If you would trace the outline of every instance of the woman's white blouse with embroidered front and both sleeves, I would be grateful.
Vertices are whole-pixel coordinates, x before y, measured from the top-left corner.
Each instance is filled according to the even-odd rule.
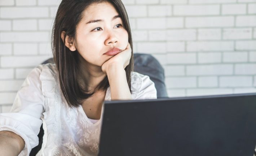
[[[56,73],[54,64],[45,64],[28,74],[10,113],[0,114],[0,131],[9,130],[24,139],[25,147],[19,156],[28,156],[38,145],[42,123],[43,144],[37,156],[96,156],[102,118],[93,121],[81,106],[70,108],[61,94]],[[133,100],[156,98],[154,82],[146,75],[132,72],[131,89]],[[111,100],[110,88],[105,100]]]

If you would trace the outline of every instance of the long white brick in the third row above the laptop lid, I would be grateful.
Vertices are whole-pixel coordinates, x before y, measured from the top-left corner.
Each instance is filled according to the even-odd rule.
[[[188,65],[186,75],[232,75],[233,65],[214,64],[214,65]]]

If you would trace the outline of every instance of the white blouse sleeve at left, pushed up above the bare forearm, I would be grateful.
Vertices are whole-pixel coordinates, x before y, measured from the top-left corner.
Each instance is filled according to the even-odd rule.
[[[29,155],[38,145],[44,111],[44,96],[41,90],[40,73],[43,66],[33,69],[19,89],[10,113],[0,114],[0,131],[8,130],[21,136],[25,147],[19,156]]]

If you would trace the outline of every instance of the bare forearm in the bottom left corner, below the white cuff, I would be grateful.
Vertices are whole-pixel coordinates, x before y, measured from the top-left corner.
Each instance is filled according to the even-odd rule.
[[[0,155],[17,156],[25,146],[24,140],[10,131],[0,132]]]

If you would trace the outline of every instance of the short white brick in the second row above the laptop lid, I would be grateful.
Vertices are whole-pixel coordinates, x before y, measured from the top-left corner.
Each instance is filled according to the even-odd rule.
[[[218,87],[218,77],[199,77],[198,87]]]

